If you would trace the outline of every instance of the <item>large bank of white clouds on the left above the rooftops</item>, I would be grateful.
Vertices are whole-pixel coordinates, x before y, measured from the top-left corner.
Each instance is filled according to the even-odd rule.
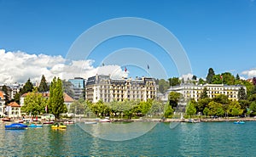
[[[112,78],[127,76],[119,65],[106,65],[93,67],[93,60],[73,60],[69,64],[59,56],[49,56],[45,54],[28,54],[24,52],[6,52],[0,49],[0,83],[24,83],[28,78],[32,82],[40,81],[44,75],[47,81],[51,81],[54,76],[62,79],[69,79],[76,76],[88,78],[90,76],[111,75]]]

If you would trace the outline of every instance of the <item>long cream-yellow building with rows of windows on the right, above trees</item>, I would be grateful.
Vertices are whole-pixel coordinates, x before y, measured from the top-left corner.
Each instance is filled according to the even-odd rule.
[[[220,94],[226,95],[230,100],[237,101],[238,100],[238,91],[241,87],[240,85],[236,86],[228,86],[224,84],[205,84],[205,85],[194,85],[194,84],[183,84],[176,87],[170,87],[167,90],[167,96],[171,92],[182,93],[183,98],[190,99],[194,98],[197,101],[201,97],[201,93],[203,93],[203,89],[207,88],[207,96],[209,98],[215,98]],[[247,88],[243,87],[245,92],[247,92]]]

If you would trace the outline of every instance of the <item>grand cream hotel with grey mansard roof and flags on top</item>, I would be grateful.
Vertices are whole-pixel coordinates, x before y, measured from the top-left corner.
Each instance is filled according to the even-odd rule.
[[[88,78],[85,87],[85,98],[92,103],[124,101],[125,99],[156,98],[156,84],[154,78],[111,79],[110,76],[93,76]]]

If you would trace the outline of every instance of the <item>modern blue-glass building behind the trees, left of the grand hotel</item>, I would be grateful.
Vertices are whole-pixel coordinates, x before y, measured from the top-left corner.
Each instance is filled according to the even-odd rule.
[[[79,98],[84,98],[84,88],[85,88],[85,80],[81,77],[75,77],[73,79],[69,79],[69,82],[73,84],[73,98],[78,100]]]

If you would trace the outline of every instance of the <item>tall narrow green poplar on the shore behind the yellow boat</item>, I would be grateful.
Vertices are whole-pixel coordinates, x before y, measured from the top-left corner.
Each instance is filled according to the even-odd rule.
[[[64,104],[62,81],[60,78],[54,78],[50,83],[48,104],[49,111],[55,115],[55,119],[60,119],[62,113],[67,113],[67,106]]]

